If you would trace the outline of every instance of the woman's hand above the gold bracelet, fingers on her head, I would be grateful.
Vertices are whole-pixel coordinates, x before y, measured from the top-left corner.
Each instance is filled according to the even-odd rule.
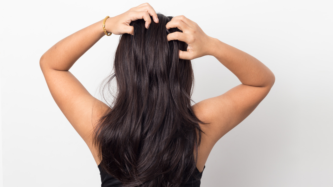
[[[150,6],[149,3],[144,3],[131,8],[123,14],[108,18],[105,22],[105,29],[107,32],[112,32],[115,35],[125,33],[133,35],[134,27],[130,26],[130,23],[138,19],[144,19],[146,21],[145,27],[148,29],[149,25],[152,23],[150,16],[153,17],[155,23],[159,22],[153,7]]]

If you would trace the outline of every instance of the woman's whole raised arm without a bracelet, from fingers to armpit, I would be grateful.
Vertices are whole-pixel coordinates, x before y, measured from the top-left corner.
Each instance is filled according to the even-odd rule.
[[[251,55],[207,36],[193,21],[176,16],[166,28],[182,30],[168,34],[168,41],[180,40],[188,44],[187,51],[179,51],[179,58],[192,60],[205,55],[214,56],[237,76],[242,83],[228,92],[202,100],[193,105],[196,116],[209,125],[202,125],[198,169],[204,163],[214,144],[228,131],[243,121],[265,98],[272,88],[274,74]]]

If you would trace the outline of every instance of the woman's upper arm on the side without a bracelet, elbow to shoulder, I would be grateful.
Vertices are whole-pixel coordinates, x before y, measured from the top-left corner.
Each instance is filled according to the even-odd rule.
[[[202,125],[212,146],[243,121],[265,98],[271,86],[253,87],[240,84],[228,92],[193,105],[195,115],[208,125]],[[208,141],[208,140],[206,140]]]

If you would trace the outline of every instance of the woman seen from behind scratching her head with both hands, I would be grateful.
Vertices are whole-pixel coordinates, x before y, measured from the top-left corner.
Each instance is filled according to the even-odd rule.
[[[115,74],[104,87],[116,78],[112,107],[68,71],[110,33],[122,34]],[[190,60],[205,55],[242,84],[191,106]],[[102,186],[199,186],[214,144],[256,108],[275,81],[254,57],[207,36],[184,16],[156,14],[148,3],[66,37],[41,57],[40,66],[54,100],[90,148]]]

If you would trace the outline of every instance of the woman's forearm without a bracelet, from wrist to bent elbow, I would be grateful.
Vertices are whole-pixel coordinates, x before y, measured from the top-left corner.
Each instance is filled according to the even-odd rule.
[[[213,39],[212,54],[221,64],[228,68],[244,85],[254,87],[271,87],[274,74],[259,60],[251,55]]]

